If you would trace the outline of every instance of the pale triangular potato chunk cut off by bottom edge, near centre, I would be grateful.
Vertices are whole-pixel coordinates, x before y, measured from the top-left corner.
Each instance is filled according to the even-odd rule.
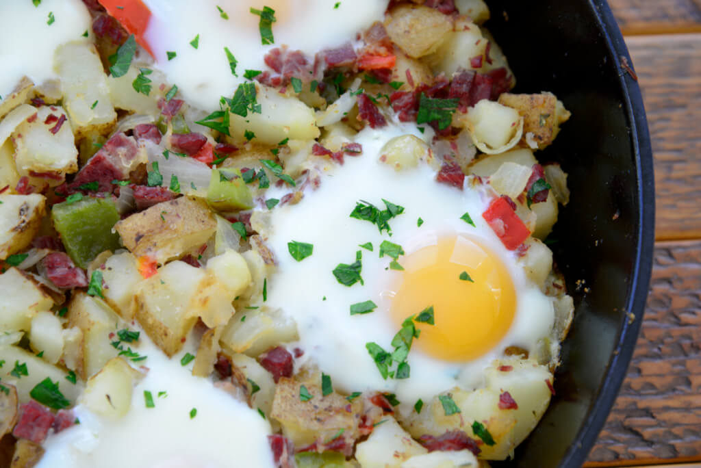
[[[399,468],[404,466],[405,460],[428,453],[394,418],[385,416],[382,419],[382,424],[355,448],[355,459],[362,468]]]

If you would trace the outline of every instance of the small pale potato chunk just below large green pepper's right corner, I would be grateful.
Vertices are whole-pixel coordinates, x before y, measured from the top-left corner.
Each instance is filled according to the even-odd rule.
[[[100,269],[104,287],[104,300],[129,322],[134,318],[134,294],[143,277],[137,270],[136,259],[129,252],[112,255]]]

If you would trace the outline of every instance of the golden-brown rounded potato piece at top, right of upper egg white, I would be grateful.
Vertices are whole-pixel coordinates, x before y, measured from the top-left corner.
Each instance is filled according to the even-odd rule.
[[[423,57],[435,50],[453,29],[449,16],[423,5],[401,4],[385,20],[390,39],[409,57]]]

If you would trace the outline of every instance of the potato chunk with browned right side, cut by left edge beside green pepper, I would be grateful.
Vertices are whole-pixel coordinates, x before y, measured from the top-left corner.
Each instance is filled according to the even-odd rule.
[[[0,260],[32,243],[46,213],[45,204],[46,198],[39,193],[0,195]]]

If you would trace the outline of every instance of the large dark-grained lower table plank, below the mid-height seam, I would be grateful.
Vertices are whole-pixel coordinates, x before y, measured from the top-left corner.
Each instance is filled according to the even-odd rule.
[[[643,320],[587,467],[701,462],[701,240],[655,246]]]

